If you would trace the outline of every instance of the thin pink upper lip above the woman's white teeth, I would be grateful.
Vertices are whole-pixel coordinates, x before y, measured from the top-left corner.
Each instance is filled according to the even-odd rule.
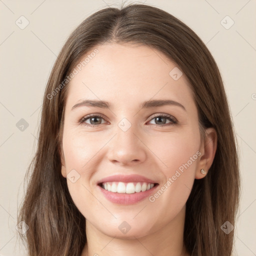
[[[120,181],[120,182],[147,182],[147,183],[157,183],[156,181],[146,178],[144,176],[138,174],[130,174],[130,175],[112,175],[105,178],[100,179],[97,184],[102,182],[110,182],[110,181]]]

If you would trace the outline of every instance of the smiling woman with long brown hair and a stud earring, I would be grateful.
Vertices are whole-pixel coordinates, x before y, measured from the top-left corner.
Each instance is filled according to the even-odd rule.
[[[71,33],[29,167],[29,255],[231,255],[239,172],[223,83],[163,10],[109,7]]]

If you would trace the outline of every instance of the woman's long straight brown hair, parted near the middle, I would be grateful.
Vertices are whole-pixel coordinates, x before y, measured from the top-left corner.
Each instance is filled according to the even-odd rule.
[[[188,78],[199,125],[214,127],[218,141],[207,175],[195,179],[186,202],[184,243],[192,255],[229,256],[233,231],[226,234],[221,225],[225,221],[234,225],[240,178],[222,79],[209,50],[188,26],[145,4],[108,7],[90,15],[70,34],[54,63],[43,97],[37,151],[27,170],[27,177],[31,170],[29,183],[18,213],[18,222],[29,226],[21,235],[29,256],[80,256],[85,245],[85,218],[60,172],[65,79],[85,53],[106,41],[134,42],[159,50]]]

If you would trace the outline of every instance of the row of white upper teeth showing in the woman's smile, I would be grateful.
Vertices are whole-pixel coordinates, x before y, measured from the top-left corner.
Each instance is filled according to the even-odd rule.
[[[149,190],[154,186],[154,183],[146,182],[103,182],[101,187],[105,190],[114,192],[114,193],[127,193],[132,194],[135,192],[144,192]]]

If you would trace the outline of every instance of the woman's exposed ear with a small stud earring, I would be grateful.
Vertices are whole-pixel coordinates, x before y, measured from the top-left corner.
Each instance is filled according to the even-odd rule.
[[[205,130],[205,139],[201,143],[200,148],[200,160],[198,163],[198,167],[195,172],[195,178],[203,178],[207,174],[217,149],[217,132],[214,128],[207,128]],[[205,174],[201,173],[201,169],[204,169]]]

